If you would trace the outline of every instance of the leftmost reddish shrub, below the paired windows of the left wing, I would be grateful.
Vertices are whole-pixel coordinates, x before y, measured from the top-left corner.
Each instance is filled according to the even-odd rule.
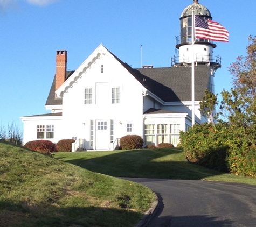
[[[55,150],[55,144],[49,140],[33,140],[27,142],[24,147],[43,154],[51,154]]]

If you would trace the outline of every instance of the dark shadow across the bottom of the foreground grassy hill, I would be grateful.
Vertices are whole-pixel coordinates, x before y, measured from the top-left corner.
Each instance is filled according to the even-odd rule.
[[[0,201],[1,227],[105,226],[133,227],[143,214],[107,207],[59,207],[20,201]]]

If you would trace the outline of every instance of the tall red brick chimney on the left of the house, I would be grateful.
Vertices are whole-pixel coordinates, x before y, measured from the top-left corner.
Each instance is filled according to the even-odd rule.
[[[57,51],[55,90],[57,90],[66,79],[67,74],[67,51]]]

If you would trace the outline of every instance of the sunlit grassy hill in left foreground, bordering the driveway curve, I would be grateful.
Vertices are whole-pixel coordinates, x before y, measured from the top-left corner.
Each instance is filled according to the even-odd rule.
[[[139,184],[0,141],[0,225],[134,226],[155,195]]]

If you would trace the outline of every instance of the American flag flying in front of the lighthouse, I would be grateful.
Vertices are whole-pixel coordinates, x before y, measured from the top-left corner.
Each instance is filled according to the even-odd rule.
[[[209,39],[212,41],[228,42],[229,32],[218,22],[195,16],[196,38]]]

